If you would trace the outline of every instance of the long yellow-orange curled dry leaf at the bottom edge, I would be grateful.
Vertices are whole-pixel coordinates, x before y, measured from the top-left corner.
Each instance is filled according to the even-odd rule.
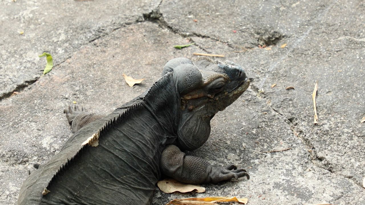
[[[247,204],[248,198],[237,197],[205,197],[205,198],[180,198],[168,202],[166,205],[218,205],[215,202],[239,202]]]

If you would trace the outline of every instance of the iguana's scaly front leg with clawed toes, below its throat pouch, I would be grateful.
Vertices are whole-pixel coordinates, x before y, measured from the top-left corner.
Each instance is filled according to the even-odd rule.
[[[185,155],[174,145],[167,146],[162,152],[160,167],[165,175],[191,184],[218,183],[243,176],[250,178],[245,169],[237,169],[234,165],[227,168],[211,165],[199,157]]]

